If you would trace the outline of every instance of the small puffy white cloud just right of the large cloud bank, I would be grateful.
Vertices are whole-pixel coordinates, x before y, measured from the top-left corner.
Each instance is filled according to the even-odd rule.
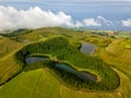
[[[83,23],[84,23],[86,26],[102,26],[100,23],[98,23],[95,19],[92,19],[92,17],[85,19],[85,20],[83,21]]]

